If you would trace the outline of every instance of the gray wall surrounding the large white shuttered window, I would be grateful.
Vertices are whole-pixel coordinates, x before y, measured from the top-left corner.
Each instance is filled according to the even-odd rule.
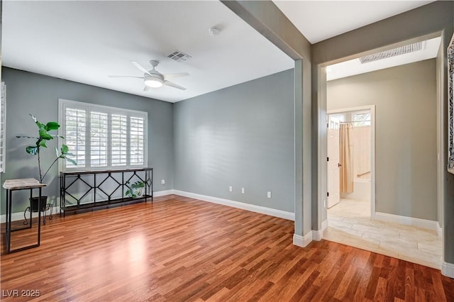
[[[148,165],[154,168],[154,190],[173,189],[172,104],[6,67],[2,69],[2,80],[6,83],[7,98],[6,173],[2,179],[39,177],[36,157],[25,152],[29,141],[18,139],[16,135],[35,135],[36,125],[28,113],[42,122],[58,121],[58,99],[69,99],[148,112]],[[45,151],[49,152],[41,152],[43,160],[49,162],[53,150]],[[160,179],[165,179],[165,185],[160,184]],[[49,186],[43,193],[56,202],[57,165],[45,182]],[[1,196],[3,199],[4,192]],[[18,203],[17,207],[13,206],[13,212],[15,208],[22,211],[23,206]],[[4,208],[1,208],[1,213],[4,213]]]

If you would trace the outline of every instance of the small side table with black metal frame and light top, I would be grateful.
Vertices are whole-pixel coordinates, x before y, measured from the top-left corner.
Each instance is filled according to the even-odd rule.
[[[27,178],[27,179],[9,179],[6,180],[3,184],[4,189],[6,189],[6,252],[19,252],[22,250],[28,250],[33,247],[40,246],[40,236],[41,236],[41,211],[38,211],[38,243],[34,245],[28,245],[25,247],[20,247],[16,250],[11,250],[11,232],[16,230],[24,230],[26,228],[32,228],[30,226],[26,228],[16,228],[11,230],[11,203],[12,203],[12,193],[13,191],[19,190],[30,190],[30,198],[33,197],[33,189],[38,189],[39,191],[39,201],[38,201],[38,208],[41,207],[41,189],[43,186],[47,186],[47,184],[40,184],[37,179]],[[30,201],[31,203],[31,201]],[[30,214],[31,215],[31,214]]]

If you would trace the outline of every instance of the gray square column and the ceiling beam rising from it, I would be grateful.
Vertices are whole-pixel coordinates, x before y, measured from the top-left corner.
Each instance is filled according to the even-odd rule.
[[[222,1],[222,0],[221,0]],[[314,192],[311,191],[312,157],[316,155],[312,144],[311,114],[311,43],[289,21],[272,1],[222,1],[240,18],[255,28],[265,38],[295,60],[294,84],[294,192],[295,192],[295,235],[298,245],[301,236],[312,228],[319,230],[321,220],[314,220],[318,208],[312,206]],[[316,109],[316,108],[315,108]],[[326,211],[325,211],[326,214]],[[319,225],[317,225],[317,223]]]

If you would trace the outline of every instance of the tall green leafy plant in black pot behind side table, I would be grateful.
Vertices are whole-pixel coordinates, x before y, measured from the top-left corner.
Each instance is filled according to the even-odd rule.
[[[76,165],[77,162],[72,160],[71,158],[68,158],[67,155],[72,155],[72,153],[69,152],[69,148],[67,145],[62,145],[60,147],[60,151],[55,147],[55,160],[48,166],[48,169],[45,170],[43,174],[43,167],[41,163],[41,157],[40,157],[40,152],[41,148],[47,148],[48,145],[47,143],[50,140],[53,140],[54,138],[63,138],[60,135],[54,135],[50,134],[50,131],[58,130],[60,128],[60,125],[57,122],[48,122],[48,123],[40,123],[36,119],[35,116],[30,114],[31,118],[33,118],[33,121],[35,121],[35,124],[38,126],[38,136],[17,136],[17,138],[31,138],[33,140],[36,140],[35,145],[29,145],[26,147],[26,152],[31,155],[38,155],[38,171],[40,174],[39,181],[40,183],[43,183],[46,175],[50,171],[50,168],[58,162],[60,159],[65,159],[68,162],[71,162],[72,164]],[[41,196],[41,211],[45,210],[46,208],[46,203],[48,200],[48,196]],[[33,197],[32,198],[32,206],[31,206],[31,211],[33,212],[38,212],[38,197]]]

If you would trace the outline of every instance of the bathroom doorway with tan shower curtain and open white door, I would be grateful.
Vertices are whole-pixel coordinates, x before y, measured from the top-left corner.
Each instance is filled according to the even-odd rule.
[[[367,203],[372,193],[372,112],[345,109],[328,114],[328,208],[343,199]],[[375,208],[375,207],[374,207]]]

